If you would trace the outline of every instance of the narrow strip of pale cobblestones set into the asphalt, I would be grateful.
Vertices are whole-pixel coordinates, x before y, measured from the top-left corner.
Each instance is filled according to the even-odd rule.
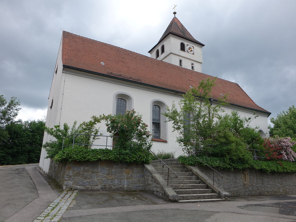
[[[76,194],[77,190],[63,191],[33,222],[59,221]]]

